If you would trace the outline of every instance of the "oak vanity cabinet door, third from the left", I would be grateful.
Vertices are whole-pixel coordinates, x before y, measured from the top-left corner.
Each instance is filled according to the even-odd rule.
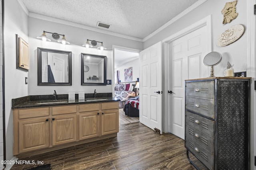
[[[100,135],[100,113],[84,113],[79,115],[79,140]]]

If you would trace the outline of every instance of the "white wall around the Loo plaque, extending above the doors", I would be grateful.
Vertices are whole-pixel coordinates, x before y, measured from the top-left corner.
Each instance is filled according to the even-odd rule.
[[[222,24],[223,15],[221,10],[224,8],[226,2],[230,0],[207,0],[202,5],[198,6],[196,9],[189,12],[184,17],[172,23],[170,26],[166,27],[164,30],[160,31],[158,34],[154,35],[152,38],[144,42],[144,49],[150,47],[151,45],[162,41],[163,39],[177,33],[178,31],[192,25],[193,23],[211,15],[212,18],[212,51],[218,51],[222,54],[222,61],[217,66],[214,66],[215,76],[224,76],[224,70],[227,66],[227,62],[230,61],[234,64],[234,72],[248,71],[247,66],[247,15],[246,15],[246,1],[238,1],[236,5],[236,12],[238,16],[231,23],[226,25]],[[253,8],[253,7],[252,7]],[[218,47],[216,45],[216,40],[218,35],[224,32],[232,25],[242,24],[245,27],[244,35],[238,39],[238,41],[225,46]]]

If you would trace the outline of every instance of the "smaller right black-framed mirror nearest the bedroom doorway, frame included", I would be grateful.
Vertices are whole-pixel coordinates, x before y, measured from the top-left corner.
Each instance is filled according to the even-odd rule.
[[[106,85],[107,57],[81,53],[81,85]]]

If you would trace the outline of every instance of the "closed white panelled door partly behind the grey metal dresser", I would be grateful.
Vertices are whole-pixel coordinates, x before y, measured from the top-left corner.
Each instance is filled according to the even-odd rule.
[[[169,114],[170,133],[185,137],[185,82],[187,79],[208,77],[209,69],[204,65],[204,56],[208,53],[206,26],[201,27],[169,46]],[[170,68],[171,67],[171,68]]]

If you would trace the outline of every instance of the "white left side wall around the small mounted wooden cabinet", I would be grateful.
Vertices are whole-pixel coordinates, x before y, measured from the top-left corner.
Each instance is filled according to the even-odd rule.
[[[28,95],[28,72],[16,69],[16,34],[28,42],[28,16],[17,0],[4,1],[6,160],[13,158],[12,99]],[[29,43],[28,43],[29,44]]]

